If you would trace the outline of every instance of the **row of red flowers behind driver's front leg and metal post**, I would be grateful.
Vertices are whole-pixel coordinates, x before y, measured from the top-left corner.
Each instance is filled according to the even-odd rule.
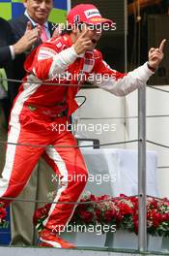
[[[90,203],[90,202],[93,203]],[[88,203],[89,202],[89,203]],[[138,197],[120,195],[95,196],[90,192],[82,195],[80,203],[70,219],[70,225],[116,225],[116,230],[127,230],[138,234]],[[34,224],[42,231],[42,221],[47,217],[51,204],[36,210]],[[169,237],[169,201],[147,197],[148,234]]]

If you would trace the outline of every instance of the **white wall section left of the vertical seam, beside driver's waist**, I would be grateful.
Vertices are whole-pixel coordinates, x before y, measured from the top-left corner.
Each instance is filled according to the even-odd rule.
[[[125,115],[125,98],[116,97],[102,89],[82,89],[78,95],[86,96],[86,103],[74,113],[74,118],[78,117],[112,117]],[[82,100],[78,100],[78,102]],[[95,131],[77,132],[77,135],[83,138],[99,139],[101,144],[110,142],[119,142],[125,140],[124,120],[78,120],[78,124],[86,124],[86,127],[94,125]],[[109,131],[103,131],[104,125],[110,127]],[[99,126],[102,129],[100,132]],[[115,131],[114,131],[115,130]],[[111,147],[111,146],[110,146]],[[117,145],[116,147],[124,147],[124,145]]]

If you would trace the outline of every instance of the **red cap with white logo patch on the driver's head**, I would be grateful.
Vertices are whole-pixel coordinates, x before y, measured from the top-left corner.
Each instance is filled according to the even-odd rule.
[[[84,22],[87,24],[102,24],[107,23],[109,25],[114,22],[111,19],[103,18],[99,14],[99,10],[94,5],[88,4],[80,4],[76,5],[74,8],[70,10],[68,15],[68,23],[73,25],[74,23]]]

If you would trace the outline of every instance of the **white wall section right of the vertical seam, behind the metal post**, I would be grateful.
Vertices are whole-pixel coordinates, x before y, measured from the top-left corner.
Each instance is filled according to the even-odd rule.
[[[159,86],[169,90],[169,86]],[[138,114],[138,93],[133,92],[126,97],[127,116]],[[147,115],[169,114],[169,94],[147,88]],[[137,119],[129,119],[126,127],[126,140],[137,138]],[[169,145],[169,117],[147,118],[147,140]],[[127,148],[137,148],[137,144],[127,144]],[[169,149],[154,144],[147,144],[147,149],[155,150],[158,166],[169,166]],[[169,198],[169,169],[157,169],[157,184],[161,197]]]

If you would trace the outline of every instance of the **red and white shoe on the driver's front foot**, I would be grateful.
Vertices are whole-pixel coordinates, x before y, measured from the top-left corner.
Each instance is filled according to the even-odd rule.
[[[43,229],[40,233],[40,240],[42,241],[39,243],[39,246],[41,247],[55,247],[65,249],[75,248],[74,244],[67,240],[61,239],[58,235],[46,229]]]

